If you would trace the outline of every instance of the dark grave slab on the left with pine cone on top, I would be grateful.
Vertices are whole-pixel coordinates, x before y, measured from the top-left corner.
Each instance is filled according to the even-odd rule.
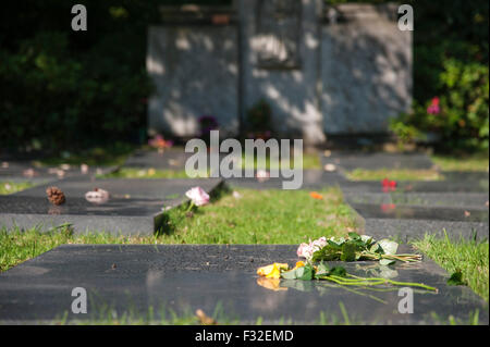
[[[221,179],[96,179],[56,182],[66,197],[61,206],[51,205],[46,196],[49,185],[36,186],[14,195],[0,196],[0,226],[56,226],[73,224],[75,232],[106,231],[122,234],[152,234],[162,226],[163,208],[175,207],[195,186],[211,194]],[[109,191],[102,203],[89,202],[85,194],[94,188]]]

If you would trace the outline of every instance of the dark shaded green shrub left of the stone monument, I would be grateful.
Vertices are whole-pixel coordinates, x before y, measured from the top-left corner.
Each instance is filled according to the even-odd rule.
[[[40,32],[0,52],[2,144],[49,151],[133,136],[149,80],[105,50],[102,40],[73,58],[65,33]]]

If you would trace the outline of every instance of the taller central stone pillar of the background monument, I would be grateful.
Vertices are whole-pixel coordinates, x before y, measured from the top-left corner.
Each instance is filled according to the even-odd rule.
[[[324,135],[321,127],[321,112],[318,104],[319,53],[320,40],[318,28],[321,16],[321,0],[297,0],[299,25],[290,27],[293,34],[298,34],[296,47],[296,64],[292,67],[262,66],[259,61],[260,32],[257,28],[257,7],[266,1],[242,1],[240,8],[244,39],[242,41],[243,59],[243,104],[247,110],[260,99],[271,107],[275,131],[282,134],[301,136],[307,142],[322,142]],[[267,18],[275,21],[273,16]],[[278,34],[280,36],[280,34]],[[272,42],[273,44],[273,42]],[[293,53],[292,53],[293,54]]]

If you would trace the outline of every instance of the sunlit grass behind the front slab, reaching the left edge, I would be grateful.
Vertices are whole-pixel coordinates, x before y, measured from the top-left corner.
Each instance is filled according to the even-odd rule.
[[[240,198],[223,193],[192,213],[185,208],[170,210],[167,227],[158,235],[74,235],[69,226],[0,228],[0,271],[63,244],[299,244],[356,227],[355,212],[336,188],[320,191],[322,200],[302,190],[236,191]]]

